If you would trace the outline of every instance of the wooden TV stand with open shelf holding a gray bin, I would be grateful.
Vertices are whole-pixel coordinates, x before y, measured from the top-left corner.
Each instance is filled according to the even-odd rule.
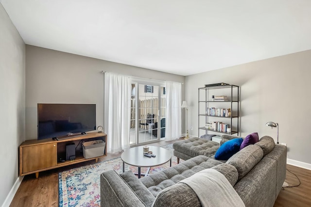
[[[76,150],[76,158],[73,160],[63,160],[66,156],[66,144],[75,143],[76,146],[81,141],[103,140],[105,143],[104,155],[94,158],[84,158],[80,149]],[[39,172],[64,167],[88,160],[98,161],[99,158],[107,156],[107,135],[103,132],[93,132],[86,135],[66,137],[66,139],[46,139],[46,140],[27,140],[19,146],[19,175],[35,174],[39,177]],[[39,158],[39,159],[38,159]]]

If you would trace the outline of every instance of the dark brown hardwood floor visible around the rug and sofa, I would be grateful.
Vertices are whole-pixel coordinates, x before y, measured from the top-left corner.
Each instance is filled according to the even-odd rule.
[[[148,145],[162,146],[173,142],[153,143]],[[120,157],[121,153],[108,154],[99,161]],[[10,207],[57,207],[58,206],[58,173],[70,168],[95,163],[94,160],[78,163],[63,168],[40,172],[39,177],[26,175],[19,186]],[[311,207],[311,170],[287,165],[287,169],[296,174],[301,184],[298,187],[281,190],[274,207]],[[297,178],[287,171],[286,180],[290,186],[298,184]]]

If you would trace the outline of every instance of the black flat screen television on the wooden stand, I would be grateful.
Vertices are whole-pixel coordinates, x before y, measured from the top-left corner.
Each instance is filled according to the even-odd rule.
[[[66,139],[96,129],[96,104],[38,103],[38,140]]]

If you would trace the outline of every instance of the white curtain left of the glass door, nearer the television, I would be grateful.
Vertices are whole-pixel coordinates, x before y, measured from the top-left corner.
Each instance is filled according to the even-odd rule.
[[[130,147],[131,84],[131,77],[110,72],[104,74],[104,131],[111,153]]]

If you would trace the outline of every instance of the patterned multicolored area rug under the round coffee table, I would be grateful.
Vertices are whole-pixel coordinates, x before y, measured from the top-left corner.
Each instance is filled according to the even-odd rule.
[[[162,146],[172,152],[173,144]],[[177,164],[177,158],[172,157],[172,166]],[[163,165],[151,167],[149,174],[161,171],[170,167],[170,162]],[[100,175],[104,171],[115,170],[122,173],[121,158],[110,159],[91,165],[86,165],[67,171],[58,175],[59,207],[100,207],[101,189]],[[125,164],[125,171],[138,172],[138,168]],[[141,174],[145,174],[147,168],[141,168]]]

